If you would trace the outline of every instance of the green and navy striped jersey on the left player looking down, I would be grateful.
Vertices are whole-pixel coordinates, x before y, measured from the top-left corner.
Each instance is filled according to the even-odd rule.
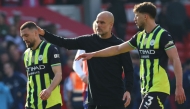
[[[57,86],[47,100],[40,99],[40,92],[50,86],[54,73],[53,66],[59,66],[60,56],[57,48],[42,41],[35,50],[28,48],[24,52],[24,63],[27,69],[26,107],[46,109],[56,104],[62,104],[60,86]]]

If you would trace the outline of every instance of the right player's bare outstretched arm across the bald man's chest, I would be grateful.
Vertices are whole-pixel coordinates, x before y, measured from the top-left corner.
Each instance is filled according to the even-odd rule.
[[[99,51],[84,53],[82,55],[79,55],[75,60],[80,60],[81,58],[83,58],[83,60],[88,60],[88,59],[91,59],[92,57],[110,57],[110,56],[115,56],[121,53],[131,51],[133,49],[134,48],[130,44],[128,44],[128,41],[127,41],[120,45],[111,46]]]

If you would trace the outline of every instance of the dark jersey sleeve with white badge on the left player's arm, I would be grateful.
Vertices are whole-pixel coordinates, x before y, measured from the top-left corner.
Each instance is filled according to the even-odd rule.
[[[49,64],[53,66],[61,65],[60,54],[57,47],[51,45],[49,49]]]

